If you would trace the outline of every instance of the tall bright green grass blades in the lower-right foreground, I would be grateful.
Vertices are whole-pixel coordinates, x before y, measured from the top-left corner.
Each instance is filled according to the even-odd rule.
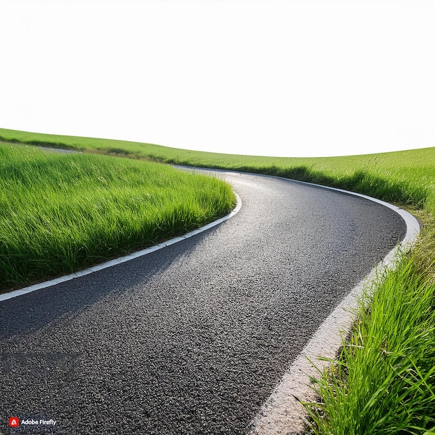
[[[352,338],[322,373],[314,434],[435,433],[435,284],[411,258],[365,295]]]

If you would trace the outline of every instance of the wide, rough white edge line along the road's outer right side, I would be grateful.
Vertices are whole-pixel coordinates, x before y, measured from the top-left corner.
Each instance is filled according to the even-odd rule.
[[[304,183],[298,181],[298,183]],[[306,183],[311,184],[311,183]],[[311,184],[312,186],[312,184]],[[315,185],[319,186],[319,185]],[[325,186],[320,186],[325,188]],[[350,195],[370,199],[398,213],[407,224],[407,233],[402,243],[392,249],[383,261],[373,268],[366,278],[361,280],[345,299],[334,309],[329,317],[320,325],[304,350],[291,363],[279,384],[265,401],[250,427],[249,435],[296,435],[304,432],[305,419],[308,418],[306,409],[299,401],[315,402],[315,391],[311,379],[318,379],[318,370],[325,370],[329,363],[320,357],[334,359],[342,344],[342,338],[350,331],[355,319],[358,300],[363,288],[381,275],[386,269],[393,269],[397,263],[397,250],[411,249],[420,233],[420,225],[413,215],[397,206],[371,198],[359,193],[348,192],[336,188]],[[313,366],[315,364],[315,366]]]

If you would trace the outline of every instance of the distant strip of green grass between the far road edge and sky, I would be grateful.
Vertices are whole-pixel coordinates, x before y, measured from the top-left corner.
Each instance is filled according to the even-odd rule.
[[[290,158],[190,151],[138,142],[0,129],[0,139],[179,165],[277,175],[423,208],[435,189],[435,147],[362,156]]]

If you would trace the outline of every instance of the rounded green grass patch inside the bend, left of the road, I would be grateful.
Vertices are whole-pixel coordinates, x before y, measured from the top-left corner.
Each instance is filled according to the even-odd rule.
[[[234,205],[227,183],[160,163],[0,144],[1,289],[154,245]]]

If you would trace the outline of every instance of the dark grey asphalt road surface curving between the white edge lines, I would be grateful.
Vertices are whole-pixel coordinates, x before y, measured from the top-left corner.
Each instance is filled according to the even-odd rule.
[[[230,220],[0,302],[1,434],[246,434],[336,304],[405,233],[384,206],[224,174]],[[9,417],[56,426],[8,427]]]

